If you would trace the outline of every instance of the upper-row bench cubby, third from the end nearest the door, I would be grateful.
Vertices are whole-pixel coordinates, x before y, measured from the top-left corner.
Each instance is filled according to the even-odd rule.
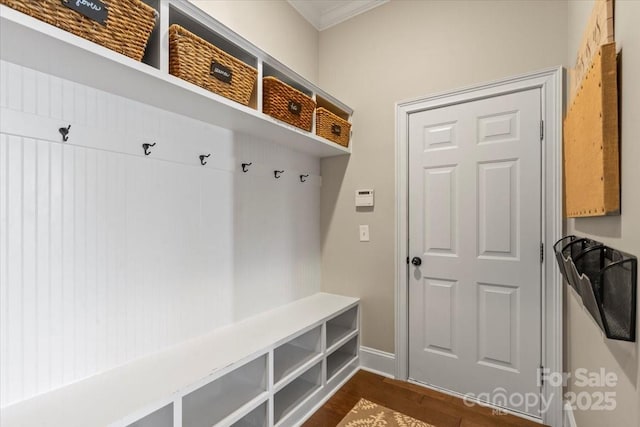
[[[184,396],[182,425],[213,426],[266,391],[265,354]]]

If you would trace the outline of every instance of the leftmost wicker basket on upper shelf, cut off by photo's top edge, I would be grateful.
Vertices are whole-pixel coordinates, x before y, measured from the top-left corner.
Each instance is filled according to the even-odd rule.
[[[72,6],[78,4],[75,0],[68,2]],[[0,3],[137,61],[142,60],[156,23],[156,11],[139,0],[101,0],[107,9],[103,23],[65,6],[63,0],[0,0]],[[102,12],[104,17],[104,9]]]

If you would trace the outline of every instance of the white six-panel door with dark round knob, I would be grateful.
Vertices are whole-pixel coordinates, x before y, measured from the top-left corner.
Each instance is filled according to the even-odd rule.
[[[409,376],[540,416],[539,89],[409,119]]]

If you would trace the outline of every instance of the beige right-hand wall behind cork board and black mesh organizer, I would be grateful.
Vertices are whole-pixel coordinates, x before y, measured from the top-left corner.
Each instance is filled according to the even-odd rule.
[[[593,7],[593,1],[570,1],[568,5],[567,63],[575,62],[582,32]],[[566,221],[567,234],[578,234],[600,240],[617,249],[640,256],[640,2],[616,0],[615,38],[622,51],[621,105],[621,186],[622,215],[601,218],[579,218]],[[615,388],[576,387],[574,393],[613,391],[615,411],[577,411],[580,427],[640,425],[640,392],[638,343],[607,340],[600,328],[582,308],[573,291],[565,292],[565,370],[586,368],[597,372],[604,368],[618,377]]]

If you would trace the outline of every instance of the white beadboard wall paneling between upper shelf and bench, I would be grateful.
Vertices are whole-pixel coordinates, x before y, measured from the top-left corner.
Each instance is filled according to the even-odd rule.
[[[319,291],[319,172],[0,61],[0,406]]]

